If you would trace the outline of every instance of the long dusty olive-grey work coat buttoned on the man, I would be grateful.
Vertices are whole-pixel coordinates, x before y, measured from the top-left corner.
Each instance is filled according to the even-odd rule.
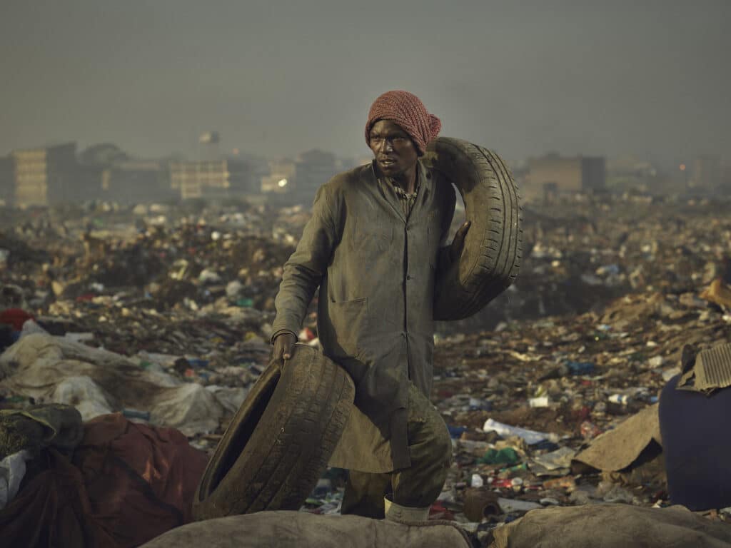
[[[274,336],[297,333],[319,286],[322,349],[356,387],[357,411],[330,461],[342,468],[407,468],[409,380],[431,392],[434,284],[455,192],[421,161],[417,176],[408,217],[375,161],[320,187],[275,300]]]

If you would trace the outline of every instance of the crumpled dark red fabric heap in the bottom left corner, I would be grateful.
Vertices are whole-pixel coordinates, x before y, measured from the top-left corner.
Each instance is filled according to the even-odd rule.
[[[121,414],[86,423],[72,460],[55,449],[42,458],[46,469],[26,476],[18,496],[0,510],[2,546],[144,544],[192,520],[193,495],[208,461],[177,430]]]

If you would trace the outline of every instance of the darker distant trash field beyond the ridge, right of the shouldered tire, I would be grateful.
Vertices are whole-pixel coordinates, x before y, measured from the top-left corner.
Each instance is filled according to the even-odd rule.
[[[439,331],[494,329],[501,321],[599,309],[628,293],[683,294],[731,283],[731,201],[577,197],[523,210],[515,283],[470,319]],[[455,216],[452,233],[462,219]]]

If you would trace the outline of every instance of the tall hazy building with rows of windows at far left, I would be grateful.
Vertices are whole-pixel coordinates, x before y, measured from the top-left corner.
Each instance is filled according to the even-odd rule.
[[[53,205],[99,197],[98,170],[78,164],[76,143],[12,151],[15,205]]]

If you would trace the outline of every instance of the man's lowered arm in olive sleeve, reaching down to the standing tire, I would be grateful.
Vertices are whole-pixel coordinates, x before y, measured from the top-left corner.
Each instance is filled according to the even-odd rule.
[[[328,190],[325,186],[320,187],[312,206],[312,217],[303,230],[297,249],[284,263],[279,292],[274,300],[276,317],[272,325],[272,342],[283,333],[294,335],[294,340],[297,340],[307,307],[336,245],[337,225],[333,209]],[[275,354],[277,350],[281,354],[285,349],[276,344]],[[280,358],[281,355],[273,356],[273,359]]]

